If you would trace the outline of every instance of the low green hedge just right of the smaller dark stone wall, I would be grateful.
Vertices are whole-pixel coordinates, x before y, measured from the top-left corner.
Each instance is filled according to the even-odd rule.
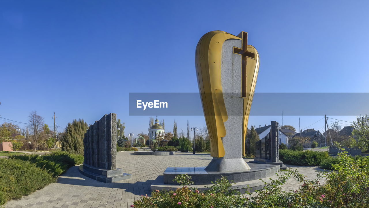
[[[279,150],[279,160],[291,165],[320,165],[328,158],[328,152]]]

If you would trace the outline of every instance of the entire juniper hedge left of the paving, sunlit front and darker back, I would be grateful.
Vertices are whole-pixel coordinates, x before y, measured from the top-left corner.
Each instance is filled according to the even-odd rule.
[[[69,167],[82,164],[81,155],[54,152],[49,155],[12,155],[0,159],[0,206],[11,199],[44,188]]]

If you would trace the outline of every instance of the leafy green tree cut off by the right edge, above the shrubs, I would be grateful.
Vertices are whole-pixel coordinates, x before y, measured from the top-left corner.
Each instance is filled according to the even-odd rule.
[[[356,117],[356,121],[352,124],[352,137],[357,140],[357,146],[361,151],[366,151],[369,148],[369,115]]]

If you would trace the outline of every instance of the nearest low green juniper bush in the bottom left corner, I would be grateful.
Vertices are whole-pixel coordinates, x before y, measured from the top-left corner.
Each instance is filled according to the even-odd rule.
[[[0,159],[0,206],[56,181],[46,169],[18,159]]]

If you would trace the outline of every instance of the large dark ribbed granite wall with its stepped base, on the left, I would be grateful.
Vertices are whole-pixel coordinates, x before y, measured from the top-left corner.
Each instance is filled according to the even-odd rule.
[[[104,183],[132,178],[116,167],[117,114],[104,115],[85,133],[83,138],[83,165],[79,171],[89,178]]]

